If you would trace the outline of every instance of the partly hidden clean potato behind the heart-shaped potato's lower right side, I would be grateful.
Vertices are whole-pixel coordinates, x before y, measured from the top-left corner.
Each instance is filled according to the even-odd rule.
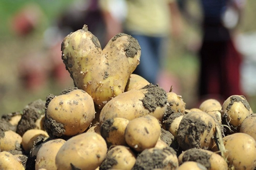
[[[142,76],[137,74],[131,74],[126,84],[125,92],[131,89],[140,90],[145,86],[147,86],[148,84],[150,84],[150,82],[148,82],[148,80],[146,80]]]

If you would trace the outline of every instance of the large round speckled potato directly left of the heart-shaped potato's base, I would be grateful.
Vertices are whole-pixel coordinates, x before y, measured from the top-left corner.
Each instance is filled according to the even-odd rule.
[[[83,90],[73,90],[54,97],[48,104],[45,129],[51,137],[74,136],[83,133],[95,116],[91,96]]]

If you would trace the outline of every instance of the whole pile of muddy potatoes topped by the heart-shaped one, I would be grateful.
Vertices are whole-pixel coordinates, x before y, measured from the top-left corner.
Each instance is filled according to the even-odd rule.
[[[186,108],[182,96],[132,74],[127,34],[102,50],[87,26],[66,36],[74,87],[0,120],[0,169],[254,169],[256,116],[244,96]]]

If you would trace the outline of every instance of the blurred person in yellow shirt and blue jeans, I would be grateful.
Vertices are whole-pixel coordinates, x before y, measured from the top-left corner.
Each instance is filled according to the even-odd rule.
[[[120,32],[137,39],[142,54],[140,65],[133,73],[156,84],[162,57],[167,53],[168,39],[181,32],[175,0],[100,0],[100,5],[106,23],[106,41]]]

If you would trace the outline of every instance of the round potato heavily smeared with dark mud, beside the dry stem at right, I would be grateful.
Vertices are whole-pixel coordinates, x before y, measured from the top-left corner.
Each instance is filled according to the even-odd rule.
[[[190,112],[182,118],[176,139],[183,150],[211,148],[217,126],[215,120],[207,113]]]

